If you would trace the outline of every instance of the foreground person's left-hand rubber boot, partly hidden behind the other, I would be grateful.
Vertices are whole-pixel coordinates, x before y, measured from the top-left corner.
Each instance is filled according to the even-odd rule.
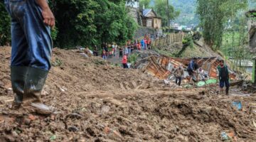
[[[14,102],[11,105],[11,109],[18,109],[18,107],[21,107],[27,73],[28,67],[11,67],[11,86],[14,91]]]

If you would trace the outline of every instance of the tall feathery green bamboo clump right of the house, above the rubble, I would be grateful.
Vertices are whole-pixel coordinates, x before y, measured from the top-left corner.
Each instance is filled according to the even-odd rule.
[[[203,38],[213,50],[219,50],[225,23],[247,7],[247,0],[198,0],[197,4]]]

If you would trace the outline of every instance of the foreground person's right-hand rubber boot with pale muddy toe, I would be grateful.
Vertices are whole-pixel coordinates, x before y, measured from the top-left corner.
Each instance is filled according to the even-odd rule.
[[[29,67],[28,76],[24,87],[24,104],[36,109],[39,114],[51,114],[52,108],[46,106],[41,101],[41,92],[46,82],[48,71],[35,67]]]

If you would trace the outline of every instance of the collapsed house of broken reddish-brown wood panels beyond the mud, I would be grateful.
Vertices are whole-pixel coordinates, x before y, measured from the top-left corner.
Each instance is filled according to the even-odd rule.
[[[146,53],[137,52],[141,54],[141,59],[137,61],[134,68],[142,70],[142,72],[158,77],[161,80],[166,80],[173,74],[175,67],[182,66],[185,71],[185,77],[188,76],[186,68],[192,60],[191,58],[169,58],[156,53],[146,56]],[[218,63],[218,57],[198,58],[197,60],[198,67],[201,67],[211,79],[218,79]],[[235,80],[235,75],[230,74],[230,79]]]

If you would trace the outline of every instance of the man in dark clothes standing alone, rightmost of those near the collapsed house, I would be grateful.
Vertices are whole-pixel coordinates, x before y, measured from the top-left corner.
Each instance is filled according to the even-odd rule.
[[[225,94],[228,95],[229,91],[229,73],[235,74],[228,70],[228,66],[224,64],[224,60],[220,60],[220,64],[217,67],[217,76],[220,81],[220,92],[223,93],[223,87],[225,86]]]

